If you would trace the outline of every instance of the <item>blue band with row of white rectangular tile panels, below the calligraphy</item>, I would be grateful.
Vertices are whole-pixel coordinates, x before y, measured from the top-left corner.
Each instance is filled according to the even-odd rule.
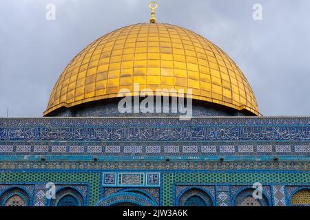
[[[174,146],[178,144],[178,152],[166,152],[165,147]],[[88,142],[88,141],[0,141],[0,146],[10,147],[6,150],[1,150],[0,160],[4,160],[8,155],[13,157],[21,157],[28,155],[30,157],[39,157],[47,155],[48,157],[169,157],[169,156],[183,156],[183,157],[207,157],[216,155],[238,155],[238,156],[264,156],[264,155],[282,155],[282,156],[300,156],[310,155],[310,143],[307,140],[287,141],[287,140],[254,140],[254,141],[184,141],[180,144],[178,141],[139,141],[139,142]],[[45,147],[44,151],[35,152],[37,146]],[[54,151],[54,147],[62,146],[62,151]],[[96,146],[97,151],[92,151],[89,148]],[[125,147],[130,146],[132,152],[126,152]],[[196,147],[196,151],[186,151],[186,147]],[[228,147],[229,148],[225,148]],[[27,149],[21,150],[22,148]],[[74,148],[80,147],[79,150]],[[118,151],[111,151],[110,148],[118,147]],[[139,151],[134,151],[135,147],[140,147]],[[148,147],[157,147],[158,152],[148,150]],[[209,147],[210,149],[207,149]],[[250,148],[249,151],[242,151],[242,147]],[[268,147],[267,149],[261,149]],[[287,147],[287,148],[284,148]],[[5,158],[3,158],[5,157]],[[13,158],[14,159],[14,158]]]

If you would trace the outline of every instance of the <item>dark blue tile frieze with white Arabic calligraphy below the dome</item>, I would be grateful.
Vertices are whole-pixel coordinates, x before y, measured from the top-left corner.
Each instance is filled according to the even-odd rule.
[[[259,126],[259,125],[237,125],[229,126],[31,126],[25,131],[25,126],[0,127],[1,142],[221,142],[221,141],[310,141],[310,126],[304,124],[282,125],[282,126]],[[169,132],[167,131],[169,129]],[[255,129],[255,135],[253,131]],[[23,133],[16,133],[14,131]],[[31,131],[34,130],[34,131]],[[259,131],[260,133],[259,133]],[[32,133],[29,134],[28,131]],[[294,133],[293,133],[294,132]],[[13,133],[13,135],[11,135]],[[52,134],[52,136],[48,136]],[[92,133],[92,137],[90,137]],[[285,137],[283,137],[285,133]],[[128,135],[130,134],[130,135]],[[134,135],[132,135],[134,134]],[[158,135],[162,134],[162,135]],[[163,135],[164,134],[164,135]],[[250,134],[250,135],[249,135]],[[289,135],[287,135],[289,134]],[[16,135],[16,136],[14,136]],[[127,135],[127,136],[126,136]],[[254,138],[255,137],[255,138]]]

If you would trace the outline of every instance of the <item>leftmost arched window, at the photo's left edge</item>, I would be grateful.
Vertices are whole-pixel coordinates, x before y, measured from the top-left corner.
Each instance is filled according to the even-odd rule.
[[[25,190],[14,187],[6,190],[0,197],[1,206],[30,206],[30,198]]]

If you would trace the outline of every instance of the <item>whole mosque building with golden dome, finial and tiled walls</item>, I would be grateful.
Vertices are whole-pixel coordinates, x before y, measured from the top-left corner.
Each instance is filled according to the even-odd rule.
[[[0,206],[310,206],[310,117],[262,116],[223,50],[150,8],[72,59],[44,117],[0,118]],[[121,113],[143,89],[192,117]]]

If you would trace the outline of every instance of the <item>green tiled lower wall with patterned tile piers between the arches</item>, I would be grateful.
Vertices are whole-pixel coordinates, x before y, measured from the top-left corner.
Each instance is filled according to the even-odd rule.
[[[134,174],[134,173],[118,173],[118,178],[121,178],[121,175],[123,174]],[[140,173],[136,173],[140,177]],[[190,188],[198,186],[198,188],[205,188],[207,191],[211,193],[212,197],[215,197],[215,188],[216,186],[216,201],[218,206],[229,206],[229,198],[231,199],[240,188],[243,188],[245,186],[249,186],[251,188],[251,184],[253,184],[256,181],[262,182],[262,183],[274,183],[275,185],[272,187],[273,190],[273,201],[275,206],[285,206],[285,187],[282,185],[282,183],[287,184],[295,184],[296,186],[287,186],[288,195],[291,195],[291,192],[293,192],[294,189],[297,188],[297,186],[302,184],[308,184],[310,185],[309,179],[310,179],[310,173],[274,173],[272,170],[266,170],[265,172],[259,172],[256,173],[255,171],[252,171],[251,173],[225,173],[223,172],[207,172],[207,173],[191,173],[187,171],[184,172],[175,172],[175,173],[161,173],[162,180],[159,179],[159,177],[154,177],[156,173],[147,173],[148,177],[146,178],[147,181],[149,181],[147,187],[153,187],[154,185],[150,184],[150,181],[155,181],[157,183],[161,182],[162,184],[160,186],[155,186],[156,188],[161,188],[161,203],[163,206],[172,206],[174,202],[174,197],[172,195],[172,188],[174,187],[174,184],[177,184],[177,186],[181,186],[183,188]],[[59,187],[65,187],[65,186],[72,186],[72,183],[76,183],[76,186],[78,186],[79,183],[88,183],[90,184],[90,190],[87,192],[87,188],[85,186],[81,186],[79,190],[83,194],[84,197],[88,195],[89,198],[89,205],[92,206],[94,203],[99,201],[99,195],[100,195],[100,182],[101,182],[101,172],[100,170],[98,172],[87,172],[85,170],[85,173],[73,173],[73,172],[65,172],[65,173],[31,173],[31,172],[12,172],[10,175],[8,173],[0,173],[0,182],[1,183],[10,183],[10,184],[1,184],[4,188],[8,188],[8,186],[15,185],[16,183],[20,182],[43,182],[43,181],[52,181],[56,183],[56,186]],[[127,184],[127,182],[124,181],[136,181],[136,176],[132,176],[130,178],[124,177],[125,180],[122,180],[123,186],[126,186],[126,188],[130,188],[130,184]],[[132,179],[134,178],[134,179]],[[144,179],[144,178],[143,178]],[[140,179],[141,181],[142,179]],[[68,183],[63,184],[60,186],[58,183]],[[277,184],[278,183],[278,184]],[[127,184],[127,185],[126,185]],[[205,186],[205,184],[209,184],[211,186]],[[230,186],[229,186],[230,185]],[[45,197],[45,188],[44,184],[39,184],[35,186],[35,200],[34,205],[35,206],[42,206],[42,203],[44,203],[44,197]],[[143,183],[141,184],[143,186]],[[25,186],[28,187],[29,191],[33,190],[33,186]],[[137,186],[138,187],[138,186]],[[138,187],[140,188],[140,187]],[[229,188],[230,188],[230,194],[229,195]],[[124,188],[125,189],[125,188]],[[1,191],[1,188],[0,188]],[[178,188],[176,188],[176,193],[179,192]],[[268,200],[271,201],[271,189],[269,186],[263,186],[263,192],[264,195],[267,196]],[[32,195],[30,193],[30,195]],[[43,196],[43,197],[42,197]]]

